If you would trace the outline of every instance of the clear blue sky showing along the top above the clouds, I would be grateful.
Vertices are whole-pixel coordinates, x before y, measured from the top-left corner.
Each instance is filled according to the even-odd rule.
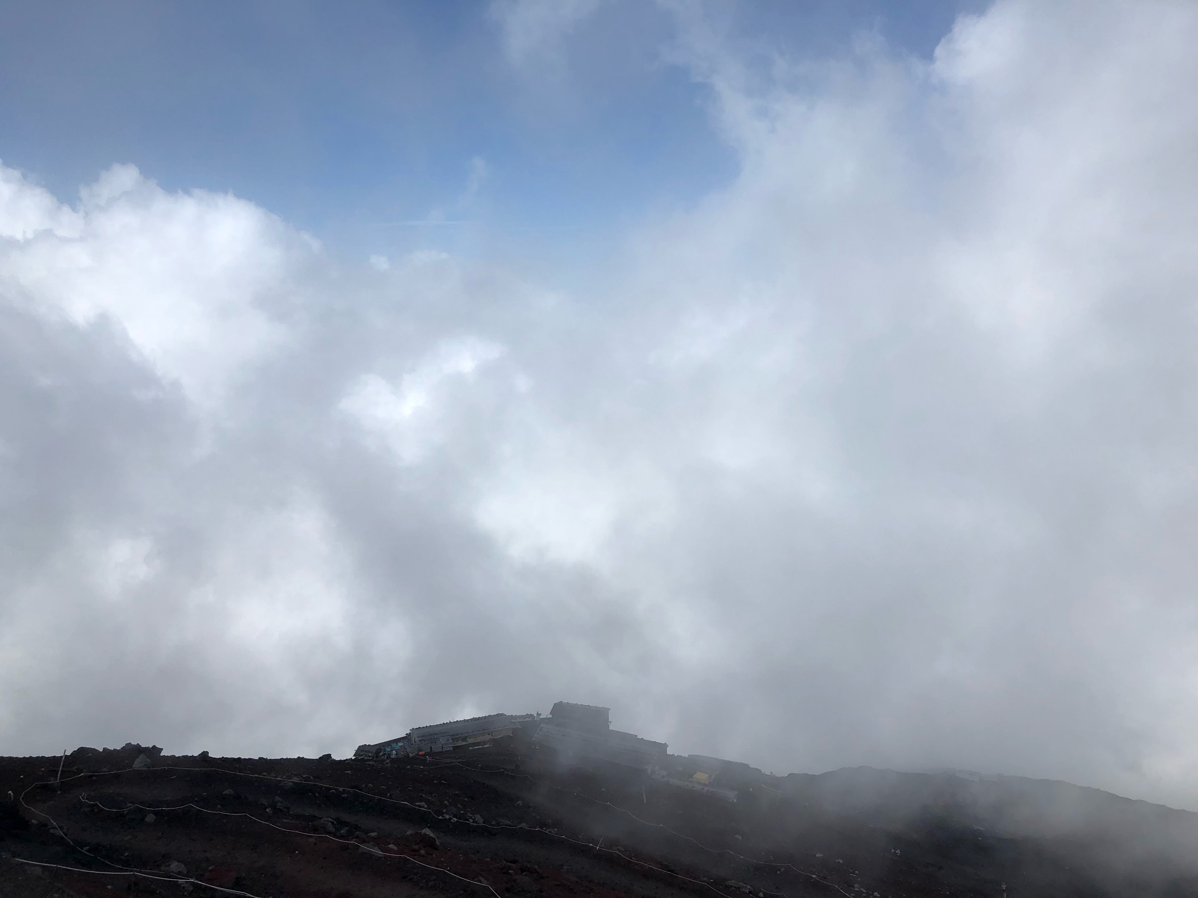
[[[761,57],[841,56],[861,31],[930,57],[963,6],[710,11]],[[387,223],[446,210],[569,242],[736,175],[709,89],[668,61],[673,19],[652,4],[604,4],[520,66],[479,2],[13,4],[6,19],[4,158],[62,198],[134,162],[167,189],[231,190],[333,247],[478,250],[450,225]],[[488,175],[460,205],[474,159]]]

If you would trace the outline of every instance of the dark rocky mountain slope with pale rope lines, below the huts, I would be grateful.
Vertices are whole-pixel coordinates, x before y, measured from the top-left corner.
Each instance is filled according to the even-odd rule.
[[[510,740],[389,762],[80,748],[0,759],[0,896],[1180,898],[1198,896],[1196,821],[1065,783],[870,769],[728,802]]]

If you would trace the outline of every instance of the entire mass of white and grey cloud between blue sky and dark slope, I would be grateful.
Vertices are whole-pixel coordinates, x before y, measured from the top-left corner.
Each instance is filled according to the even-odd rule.
[[[738,174],[574,277],[5,159],[2,753],[567,699],[1198,809],[1198,7],[1000,2],[931,61],[677,22]]]

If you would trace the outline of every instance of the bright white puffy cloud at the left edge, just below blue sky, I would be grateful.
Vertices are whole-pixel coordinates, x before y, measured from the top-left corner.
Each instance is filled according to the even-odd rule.
[[[132,165],[80,192],[78,211],[5,170],[0,247],[6,292],[86,324],[117,322],[187,392],[214,401],[230,377],[277,346],[268,304],[297,290],[315,244],[230,195],[171,195]]]

